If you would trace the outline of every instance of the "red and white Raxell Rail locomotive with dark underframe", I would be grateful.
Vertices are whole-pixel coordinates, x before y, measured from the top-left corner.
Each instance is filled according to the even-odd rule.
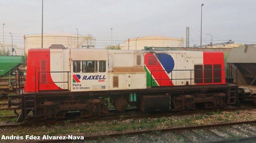
[[[29,49],[19,120],[107,115],[118,110],[189,111],[236,104],[237,86],[226,83],[223,52],[106,49]],[[21,87],[22,88],[22,87]]]

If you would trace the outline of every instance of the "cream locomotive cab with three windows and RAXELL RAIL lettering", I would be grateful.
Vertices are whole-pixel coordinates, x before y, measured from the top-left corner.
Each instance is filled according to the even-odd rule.
[[[105,49],[71,49],[71,92],[108,89],[108,56]]]

